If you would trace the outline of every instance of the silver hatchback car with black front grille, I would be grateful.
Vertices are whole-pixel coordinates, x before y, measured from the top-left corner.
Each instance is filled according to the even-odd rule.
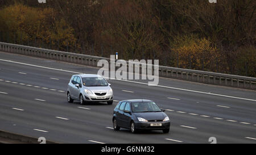
[[[97,74],[79,74],[71,77],[67,90],[68,102],[80,100],[86,102],[113,103],[113,90],[105,78]]]

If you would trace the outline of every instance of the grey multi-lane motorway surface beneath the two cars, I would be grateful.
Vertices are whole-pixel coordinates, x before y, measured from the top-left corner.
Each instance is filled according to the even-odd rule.
[[[90,66],[0,52],[0,129],[59,143],[256,143],[256,91],[159,78],[109,79],[113,105],[67,102],[73,74],[93,73]],[[114,131],[119,100],[151,99],[166,109],[170,133]]]

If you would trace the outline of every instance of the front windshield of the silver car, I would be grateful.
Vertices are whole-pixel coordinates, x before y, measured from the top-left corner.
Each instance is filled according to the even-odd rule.
[[[108,86],[108,82],[102,77],[83,77],[82,85],[86,87]]]

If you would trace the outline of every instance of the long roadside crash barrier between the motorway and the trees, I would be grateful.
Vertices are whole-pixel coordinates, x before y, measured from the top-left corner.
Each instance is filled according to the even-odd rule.
[[[0,51],[16,53],[20,55],[48,58],[52,60],[71,62],[74,64],[89,65],[95,67],[97,67],[97,62],[101,59],[105,59],[110,62],[110,58],[106,57],[81,55],[77,53],[61,52],[51,49],[35,48],[2,42],[0,42]],[[126,62],[128,64],[128,61]],[[154,73],[154,71],[152,72]],[[175,78],[182,79],[185,81],[193,81],[230,87],[241,87],[243,89],[256,90],[256,78],[254,77],[204,72],[201,70],[192,69],[172,68],[168,66],[159,66],[159,77]]]

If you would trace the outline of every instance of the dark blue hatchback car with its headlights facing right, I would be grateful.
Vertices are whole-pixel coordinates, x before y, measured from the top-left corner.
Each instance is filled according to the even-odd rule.
[[[132,133],[138,130],[170,131],[170,119],[155,102],[146,99],[122,100],[114,108],[113,128],[131,129]]]

